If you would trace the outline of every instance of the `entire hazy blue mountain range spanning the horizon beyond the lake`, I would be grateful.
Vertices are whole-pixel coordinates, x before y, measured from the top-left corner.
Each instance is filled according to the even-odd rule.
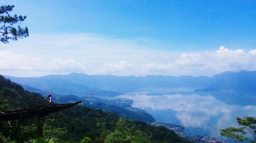
[[[12,77],[11,80],[40,90],[58,94],[83,96],[86,93],[115,96],[121,92],[133,92],[143,88],[195,88],[196,91],[235,90],[256,91],[256,71],[223,72],[207,76],[115,76],[70,73],[67,75],[47,75],[41,77]],[[65,89],[63,89],[65,87]],[[100,89],[100,90],[98,90]],[[104,91],[106,90],[106,91]],[[110,92],[116,91],[116,92]],[[103,94],[104,93],[104,94]]]

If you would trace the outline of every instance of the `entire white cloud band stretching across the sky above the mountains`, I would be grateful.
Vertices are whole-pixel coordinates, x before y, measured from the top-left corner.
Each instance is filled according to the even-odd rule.
[[[6,45],[0,44],[0,72],[3,74],[5,70],[19,76],[45,75],[51,71],[56,74],[79,71],[136,76],[212,76],[224,71],[256,70],[256,49],[246,52],[221,46],[216,51],[181,53],[156,50],[158,45],[163,46],[150,39],[115,39],[92,34],[31,35]],[[3,59],[3,52],[7,50],[9,53],[6,54],[15,57]],[[14,71],[17,69],[19,71]],[[26,70],[30,72],[25,73]]]

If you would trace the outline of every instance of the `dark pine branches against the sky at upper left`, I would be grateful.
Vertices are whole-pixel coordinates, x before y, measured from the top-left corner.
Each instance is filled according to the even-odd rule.
[[[26,16],[14,14],[11,16],[9,12],[12,11],[14,5],[0,7],[0,39],[3,43],[9,43],[9,40],[18,40],[29,36],[28,27],[20,27],[20,22],[26,19]]]

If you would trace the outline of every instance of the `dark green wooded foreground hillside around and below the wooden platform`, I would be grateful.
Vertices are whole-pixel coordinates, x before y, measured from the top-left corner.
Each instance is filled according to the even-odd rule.
[[[0,100],[4,103],[1,104],[1,110],[46,104],[46,100],[39,94],[28,92],[3,76],[0,76]],[[187,142],[164,127],[124,120],[116,114],[81,105],[60,111],[57,115],[49,115],[44,125],[44,138],[35,137],[36,127],[32,126],[35,122],[22,122],[25,142],[48,142],[52,127],[49,142]],[[13,136],[12,128],[1,127],[0,141],[11,142]]]

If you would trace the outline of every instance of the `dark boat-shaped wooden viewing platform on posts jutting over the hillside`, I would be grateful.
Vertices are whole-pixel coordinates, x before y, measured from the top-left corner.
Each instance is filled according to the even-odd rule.
[[[46,116],[48,116],[50,113],[54,113],[54,112],[57,113],[58,111],[61,111],[63,109],[67,109],[72,106],[75,106],[83,101],[85,100],[68,103],[68,104],[54,104],[51,106],[42,105],[42,106],[35,106],[30,108],[18,109],[18,110],[3,110],[3,111],[0,111],[0,128],[7,128],[7,127],[11,128],[16,142],[23,143],[25,141],[24,135],[22,134],[22,129],[21,129],[21,125],[23,121],[29,120],[30,118],[36,118],[37,120],[36,136],[43,137],[44,135],[42,130],[44,127],[44,121]],[[55,116],[54,122],[56,118],[57,118],[57,114]],[[52,129],[53,129],[53,126],[54,126],[54,123],[52,125]],[[50,136],[51,136],[51,133],[50,133]],[[49,139],[50,139],[50,136],[49,136]]]

